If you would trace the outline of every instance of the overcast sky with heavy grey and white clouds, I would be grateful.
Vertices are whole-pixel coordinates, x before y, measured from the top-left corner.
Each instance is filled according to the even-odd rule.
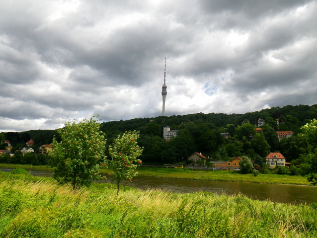
[[[3,0],[0,132],[317,103],[317,0]]]

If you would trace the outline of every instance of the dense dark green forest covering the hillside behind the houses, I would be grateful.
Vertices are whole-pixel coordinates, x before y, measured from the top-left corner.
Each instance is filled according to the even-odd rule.
[[[259,118],[265,120],[265,125],[262,126],[261,133],[256,133]],[[294,164],[299,164],[300,155],[305,154],[308,149],[307,141],[301,136],[301,127],[314,118],[317,118],[317,104],[287,105],[245,114],[196,113],[110,121],[103,122],[101,130],[106,134],[108,145],[125,131],[140,131],[138,142],[144,147],[141,159],[149,164],[190,162],[186,161],[187,157],[194,152],[202,153],[213,160],[227,160],[244,155],[259,165],[269,152],[281,152],[288,162],[294,160]],[[279,125],[276,123],[277,119]],[[179,130],[177,137],[169,142],[163,139],[165,126],[169,126],[171,130]],[[279,141],[276,131],[293,131],[294,136]],[[220,134],[222,132],[230,133],[231,138],[224,139]],[[7,132],[0,135],[2,141],[10,141],[13,153],[25,146],[30,138],[35,142],[35,154],[39,146],[52,143],[54,136],[59,139],[56,130]],[[0,146],[3,150],[5,144]],[[45,159],[42,160],[43,158],[40,164],[45,163]],[[4,162],[3,159],[1,161]]]

